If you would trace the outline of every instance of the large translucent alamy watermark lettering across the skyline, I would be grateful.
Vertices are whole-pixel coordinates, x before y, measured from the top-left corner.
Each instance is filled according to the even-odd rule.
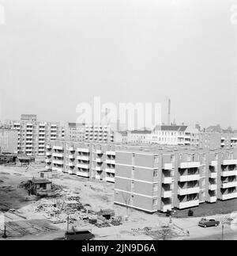
[[[94,97],[93,104],[83,102],[77,105],[77,123],[126,124],[127,129],[152,128],[161,124],[161,103],[103,103]]]

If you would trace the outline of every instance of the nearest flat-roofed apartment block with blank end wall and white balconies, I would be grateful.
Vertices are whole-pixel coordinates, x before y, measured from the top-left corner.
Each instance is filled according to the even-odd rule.
[[[191,208],[237,197],[237,151],[116,151],[115,204],[145,212]]]

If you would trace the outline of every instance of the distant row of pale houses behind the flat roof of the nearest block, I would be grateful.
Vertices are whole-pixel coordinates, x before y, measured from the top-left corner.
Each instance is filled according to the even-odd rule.
[[[186,125],[156,125],[152,130],[115,132],[115,143],[156,143],[202,148],[236,147],[235,132],[200,132]]]

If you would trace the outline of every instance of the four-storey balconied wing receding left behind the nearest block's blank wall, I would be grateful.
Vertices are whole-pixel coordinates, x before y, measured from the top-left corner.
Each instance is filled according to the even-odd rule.
[[[47,144],[46,169],[80,177],[115,182],[115,148],[108,143],[66,142]]]

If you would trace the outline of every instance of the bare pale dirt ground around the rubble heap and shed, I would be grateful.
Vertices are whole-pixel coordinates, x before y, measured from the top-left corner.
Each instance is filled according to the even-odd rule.
[[[6,230],[11,233],[11,237],[8,239],[55,239],[61,237],[66,231],[66,223],[52,224],[51,220],[47,220],[47,217],[42,213],[35,212],[36,197],[29,197],[25,189],[19,188],[21,181],[27,181],[28,178],[33,177],[38,178],[40,170],[44,170],[44,166],[32,165],[28,168],[0,166],[0,209],[2,208],[2,213],[4,208],[14,209],[13,212],[5,213]],[[58,173],[52,182],[74,192],[77,191],[81,203],[90,204],[93,211],[111,208],[115,210],[116,216],[126,216],[126,208],[113,204],[114,184],[63,173]],[[232,210],[233,208],[231,208]],[[229,216],[229,214],[215,217],[221,219],[223,216]],[[200,236],[218,236],[220,234],[221,229],[219,227],[209,229],[198,227],[198,220],[200,218],[196,216],[172,218],[170,227],[172,227],[172,232],[175,232],[175,235],[165,239],[198,239]],[[170,219],[165,215],[148,214],[130,209],[128,220],[122,221],[120,226],[95,227],[92,224],[81,222],[75,228],[92,229],[93,234],[96,235],[95,239],[163,239],[163,236],[147,235],[144,228],[150,227],[156,231],[169,222]],[[229,233],[235,234],[233,228],[227,228]],[[0,236],[2,237],[1,227]]]

